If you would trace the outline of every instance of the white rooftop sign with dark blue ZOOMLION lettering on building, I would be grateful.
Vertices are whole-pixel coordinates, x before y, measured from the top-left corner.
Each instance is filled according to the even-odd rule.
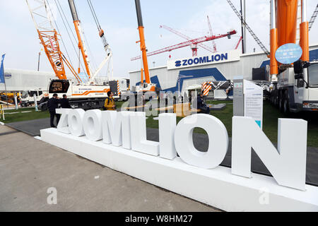
[[[202,57],[192,57],[167,61],[167,69],[181,69],[192,66],[204,66],[209,64],[220,64],[230,61],[240,61],[240,50],[216,53]]]

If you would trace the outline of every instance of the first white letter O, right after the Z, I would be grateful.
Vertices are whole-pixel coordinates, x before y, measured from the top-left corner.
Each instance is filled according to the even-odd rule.
[[[73,136],[83,136],[83,118],[85,111],[83,109],[73,109],[69,112],[69,131]]]

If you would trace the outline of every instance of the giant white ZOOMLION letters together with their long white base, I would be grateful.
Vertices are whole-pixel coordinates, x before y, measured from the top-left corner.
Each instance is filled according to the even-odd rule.
[[[278,120],[278,149],[252,118],[232,119],[232,168],[224,124],[194,114],[177,124],[159,114],[159,142],[148,141],[146,112],[57,109],[57,129],[41,139],[88,160],[182,196],[227,211],[318,211],[318,187],[305,184],[307,121]],[[196,150],[194,128],[208,134],[208,150]],[[251,172],[252,148],[273,177]]]

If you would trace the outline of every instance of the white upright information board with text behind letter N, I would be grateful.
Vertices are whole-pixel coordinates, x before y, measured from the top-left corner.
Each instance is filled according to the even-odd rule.
[[[263,129],[263,88],[244,81],[244,116],[251,117]]]

